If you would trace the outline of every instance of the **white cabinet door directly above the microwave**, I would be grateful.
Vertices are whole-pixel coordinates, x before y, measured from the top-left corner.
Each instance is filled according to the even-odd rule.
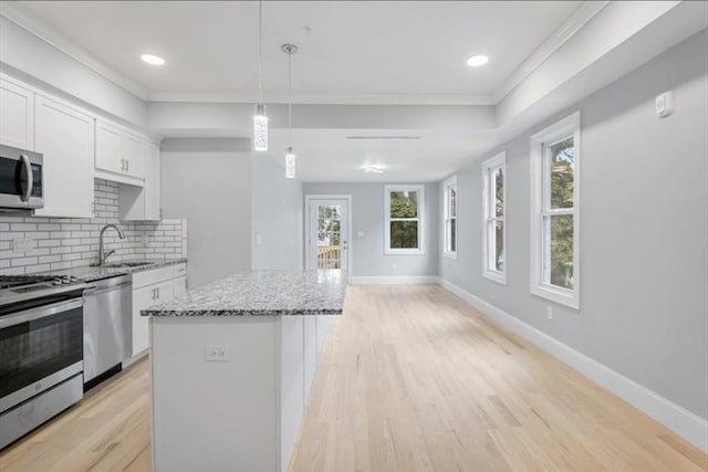
[[[34,150],[34,92],[2,78],[0,144]]]

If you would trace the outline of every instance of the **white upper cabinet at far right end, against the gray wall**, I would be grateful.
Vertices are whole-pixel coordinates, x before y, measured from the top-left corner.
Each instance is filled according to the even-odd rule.
[[[148,141],[144,147],[145,185],[143,187],[121,186],[118,203],[123,221],[160,220],[159,146]]]

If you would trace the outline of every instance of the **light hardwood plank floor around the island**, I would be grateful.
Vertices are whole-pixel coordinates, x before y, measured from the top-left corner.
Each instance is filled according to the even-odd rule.
[[[0,453],[0,471],[149,471],[147,368],[138,363]],[[435,285],[350,286],[290,464],[700,470],[698,449]]]

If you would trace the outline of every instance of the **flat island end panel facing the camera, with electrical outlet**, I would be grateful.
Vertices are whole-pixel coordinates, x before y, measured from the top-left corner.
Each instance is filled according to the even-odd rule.
[[[152,317],[153,470],[279,469],[277,317]],[[208,346],[228,360],[206,361]]]

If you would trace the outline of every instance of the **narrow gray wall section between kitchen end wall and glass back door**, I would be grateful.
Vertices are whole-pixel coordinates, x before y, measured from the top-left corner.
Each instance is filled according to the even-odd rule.
[[[302,269],[302,182],[267,155],[251,155],[251,268]],[[259,243],[260,242],[260,243]]]

